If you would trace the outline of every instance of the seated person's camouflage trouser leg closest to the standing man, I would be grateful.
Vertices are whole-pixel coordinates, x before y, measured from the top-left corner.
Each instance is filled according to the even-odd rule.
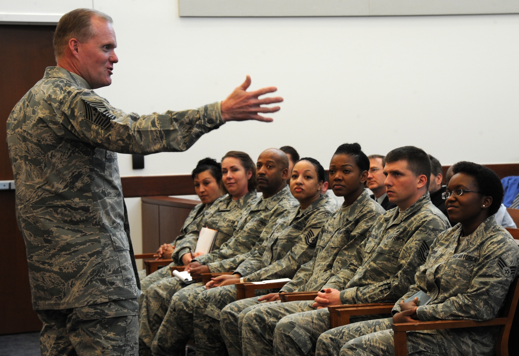
[[[176,278],[163,278],[150,284],[142,294],[139,299],[139,350],[141,355],[150,353],[149,349],[162,320],[166,316],[171,298],[185,286],[185,283]]]

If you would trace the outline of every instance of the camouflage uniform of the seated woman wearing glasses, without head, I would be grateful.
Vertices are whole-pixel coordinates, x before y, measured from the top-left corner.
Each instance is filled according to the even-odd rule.
[[[433,242],[426,263],[416,272],[415,284],[395,303],[393,315],[401,311],[402,300],[424,291],[432,299],[416,309],[421,321],[497,317],[516,276],[517,244],[494,216],[459,242],[461,229],[458,224]],[[391,323],[389,318],[336,327],[319,337],[316,355],[394,354]],[[407,332],[407,354],[494,354],[498,333],[499,326]]]

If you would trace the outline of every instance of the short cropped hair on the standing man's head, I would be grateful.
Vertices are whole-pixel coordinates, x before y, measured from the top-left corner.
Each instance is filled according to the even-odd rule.
[[[113,22],[106,13],[94,9],[75,9],[61,17],[52,39],[56,60],[63,56],[71,38],[75,38],[79,42],[86,42],[95,35],[92,30],[92,17],[94,16],[109,23]]]

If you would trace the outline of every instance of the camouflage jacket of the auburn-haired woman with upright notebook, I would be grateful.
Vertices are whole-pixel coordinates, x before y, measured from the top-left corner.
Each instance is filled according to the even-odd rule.
[[[189,249],[195,251],[202,227],[218,231],[213,250],[219,249],[225,241],[233,236],[240,217],[249,213],[257,199],[255,189],[238,200],[233,200],[233,197],[228,194],[216,199],[203,216],[197,220],[196,224],[189,226],[186,234],[176,239],[173,256],[178,258],[179,263],[181,263],[180,258],[188,253]]]

